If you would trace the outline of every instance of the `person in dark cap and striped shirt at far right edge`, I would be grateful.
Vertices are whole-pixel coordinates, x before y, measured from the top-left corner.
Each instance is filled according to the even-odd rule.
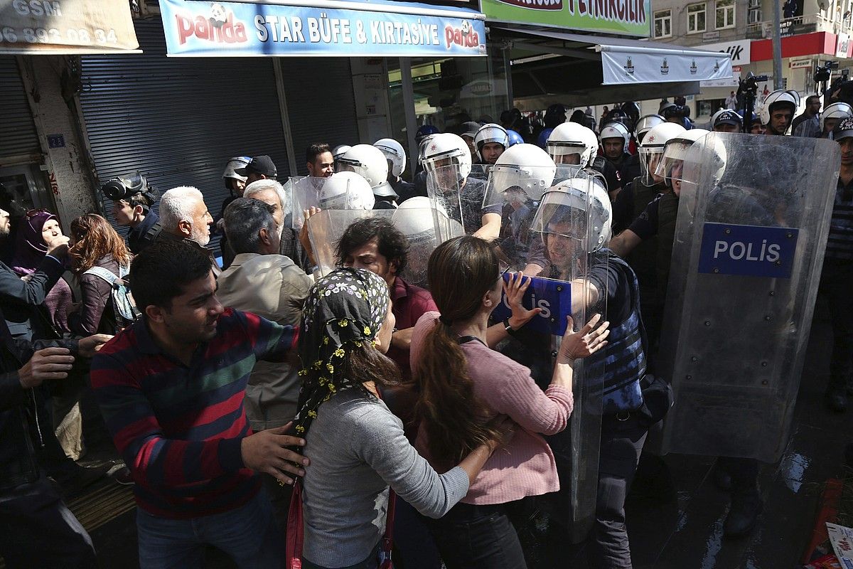
[[[853,392],[853,119],[842,119],[833,137],[841,146],[841,171],[829,224],[827,253],[823,259],[821,292],[827,295],[833,316],[833,356],[829,365],[827,406],[838,413],[847,410]]]

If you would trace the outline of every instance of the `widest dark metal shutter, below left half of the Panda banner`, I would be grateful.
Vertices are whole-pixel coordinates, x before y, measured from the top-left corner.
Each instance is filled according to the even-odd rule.
[[[269,154],[289,176],[270,60],[167,58],[160,20],[135,26],[142,54],[83,56],[80,102],[101,183],[139,170],[160,193],[195,186],[216,217],[230,157]],[[110,218],[111,208],[104,200]]]

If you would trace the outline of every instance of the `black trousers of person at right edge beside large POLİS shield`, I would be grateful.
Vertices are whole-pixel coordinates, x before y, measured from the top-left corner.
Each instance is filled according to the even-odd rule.
[[[853,261],[827,259],[821,273],[821,293],[827,295],[833,322],[833,356],[827,392],[843,392],[853,371]]]

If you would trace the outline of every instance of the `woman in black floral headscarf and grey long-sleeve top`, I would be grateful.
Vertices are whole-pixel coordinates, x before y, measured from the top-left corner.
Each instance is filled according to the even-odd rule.
[[[367,270],[335,270],[305,300],[296,421],[311,461],[302,497],[305,569],[376,567],[389,486],[438,518],[465,496],[498,444],[480,444],[441,475],[417,453],[377,391],[399,377],[385,356],[393,328],[386,282]]]

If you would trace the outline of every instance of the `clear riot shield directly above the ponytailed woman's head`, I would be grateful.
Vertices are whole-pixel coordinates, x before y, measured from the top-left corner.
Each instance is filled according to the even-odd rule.
[[[471,235],[482,227],[485,180],[462,177],[456,164],[438,166],[427,171],[427,195],[436,215],[446,213],[451,221],[461,226],[464,234]],[[442,235],[442,241],[451,236]]]

